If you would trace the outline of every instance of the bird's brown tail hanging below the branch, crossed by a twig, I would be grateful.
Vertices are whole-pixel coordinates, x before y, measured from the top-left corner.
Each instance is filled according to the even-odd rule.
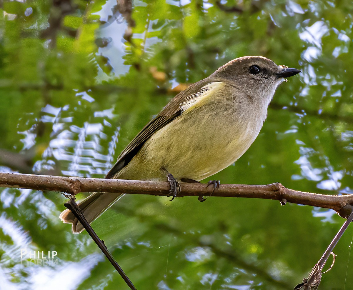
[[[124,194],[96,192],[81,201],[78,206],[82,210],[87,221],[91,223],[123,195]],[[64,223],[72,224],[72,232],[74,234],[79,234],[84,230],[82,224],[77,220],[77,218],[69,209],[64,210],[60,214],[59,218]]]

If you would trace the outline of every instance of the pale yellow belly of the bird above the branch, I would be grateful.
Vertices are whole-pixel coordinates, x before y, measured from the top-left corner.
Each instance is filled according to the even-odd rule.
[[[244,154],[257,137],[264,117],[195,109],[152,135],[116,178],[164,181],[162,167],[177,179],[207,178]]]

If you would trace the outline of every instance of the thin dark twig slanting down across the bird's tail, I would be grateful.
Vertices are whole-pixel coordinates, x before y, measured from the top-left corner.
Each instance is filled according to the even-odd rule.
[[[130,279],[126,276],[122,268],[119,266],[119,264],[115,261],[114,257],[112,254],[110,254],[109,250],[107,249],[107,246],[104,244],[104,242],[97,236],[96,232],[92,229],[90,224],[87,222],[86,218],[84,217],[81,209],[79,206],[76,204],[73,198],[71,198],[67,203],[64,204],[65,207],[67,207],[71,212],[74,214],[74,216],[79,220],[79,222],[83,225],[85,230],[88,232],[88,234],[91,236],[91,238],[95,241],[97,246],[102,250],[103,254],[106,255],[108,258],[109,262],[114,266],[115,270],[118,271],[120,276],[124,279],[125,283],[130,287],[132,290],[136,290],[135,286],[132,284]]]

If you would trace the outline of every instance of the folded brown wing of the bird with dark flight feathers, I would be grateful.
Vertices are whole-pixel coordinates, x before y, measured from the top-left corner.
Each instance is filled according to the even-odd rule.
[[[198,81],[175,96],[154,119],[143,127],[136,137],[132,139],[130,144],[126,146],[119,155],[118,161],[106,175],[106,178],[114,178],[114,176],[131,161],[155,132],[181,115],[180,103],[185,102],[188,97],[190,98],[191,95],[201,90],[202,87],[209,82],[208,78]]]

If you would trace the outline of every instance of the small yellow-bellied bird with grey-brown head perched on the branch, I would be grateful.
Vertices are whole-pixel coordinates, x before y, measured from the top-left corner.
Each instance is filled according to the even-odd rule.
[[[276,88],[299,72],[263,56],[229,61],[175,96],[132,139],[105,178],[168,180],[174,198],[179,181],[199,182],[244,154],[262,128]],[[122,195],[97,192],[78,205],[91,223]],[[83,231],[70,210],[60,218],[72,223],[74,233]]]

